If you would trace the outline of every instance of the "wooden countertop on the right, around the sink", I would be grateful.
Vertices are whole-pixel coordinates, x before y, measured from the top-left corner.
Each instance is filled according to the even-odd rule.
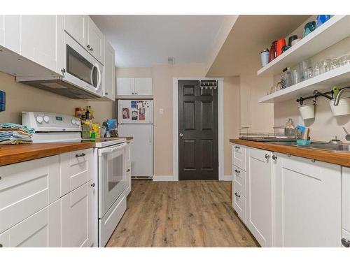
[[[350,152],[315,150],[312,148],[295,147],[292,145],[277,145],[273,143],[255,142],[241,139],[230,139],[230,143],[246,145],[247,147],[255,147],[262,150],[290,154],[297,157],[315,159],[318,161],[335,163],[340,166],[350,167]]]

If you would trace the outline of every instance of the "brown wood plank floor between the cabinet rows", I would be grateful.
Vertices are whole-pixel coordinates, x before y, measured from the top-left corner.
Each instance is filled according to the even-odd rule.
[[[107,247],[257,247],[235,214],[230,182],[132,180]]]

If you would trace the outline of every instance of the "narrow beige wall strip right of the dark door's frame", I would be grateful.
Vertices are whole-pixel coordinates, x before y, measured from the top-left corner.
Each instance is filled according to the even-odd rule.
[[[238,138],[240,126],[240,82],[239,77],[223,80],[223,112],[224,112],[224,173],[232,174],[231,138]]]

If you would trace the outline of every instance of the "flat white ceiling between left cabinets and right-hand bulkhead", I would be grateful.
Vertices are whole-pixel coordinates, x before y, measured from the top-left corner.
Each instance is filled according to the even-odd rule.
[[[116,50],[116,66],[204,63],[223,15],[91,15]]]

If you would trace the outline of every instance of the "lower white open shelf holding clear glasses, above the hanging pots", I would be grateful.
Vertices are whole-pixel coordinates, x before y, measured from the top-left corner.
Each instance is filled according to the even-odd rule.
[[[258,99],[258,102],[281,102],[289,99],[297,99],[300,96],[311,96],[315,89],[318,91],[330,91],[334,85],[342,85],[347,82],[350,82],[350,65],[335,68],[314,78],[263,96]]]

